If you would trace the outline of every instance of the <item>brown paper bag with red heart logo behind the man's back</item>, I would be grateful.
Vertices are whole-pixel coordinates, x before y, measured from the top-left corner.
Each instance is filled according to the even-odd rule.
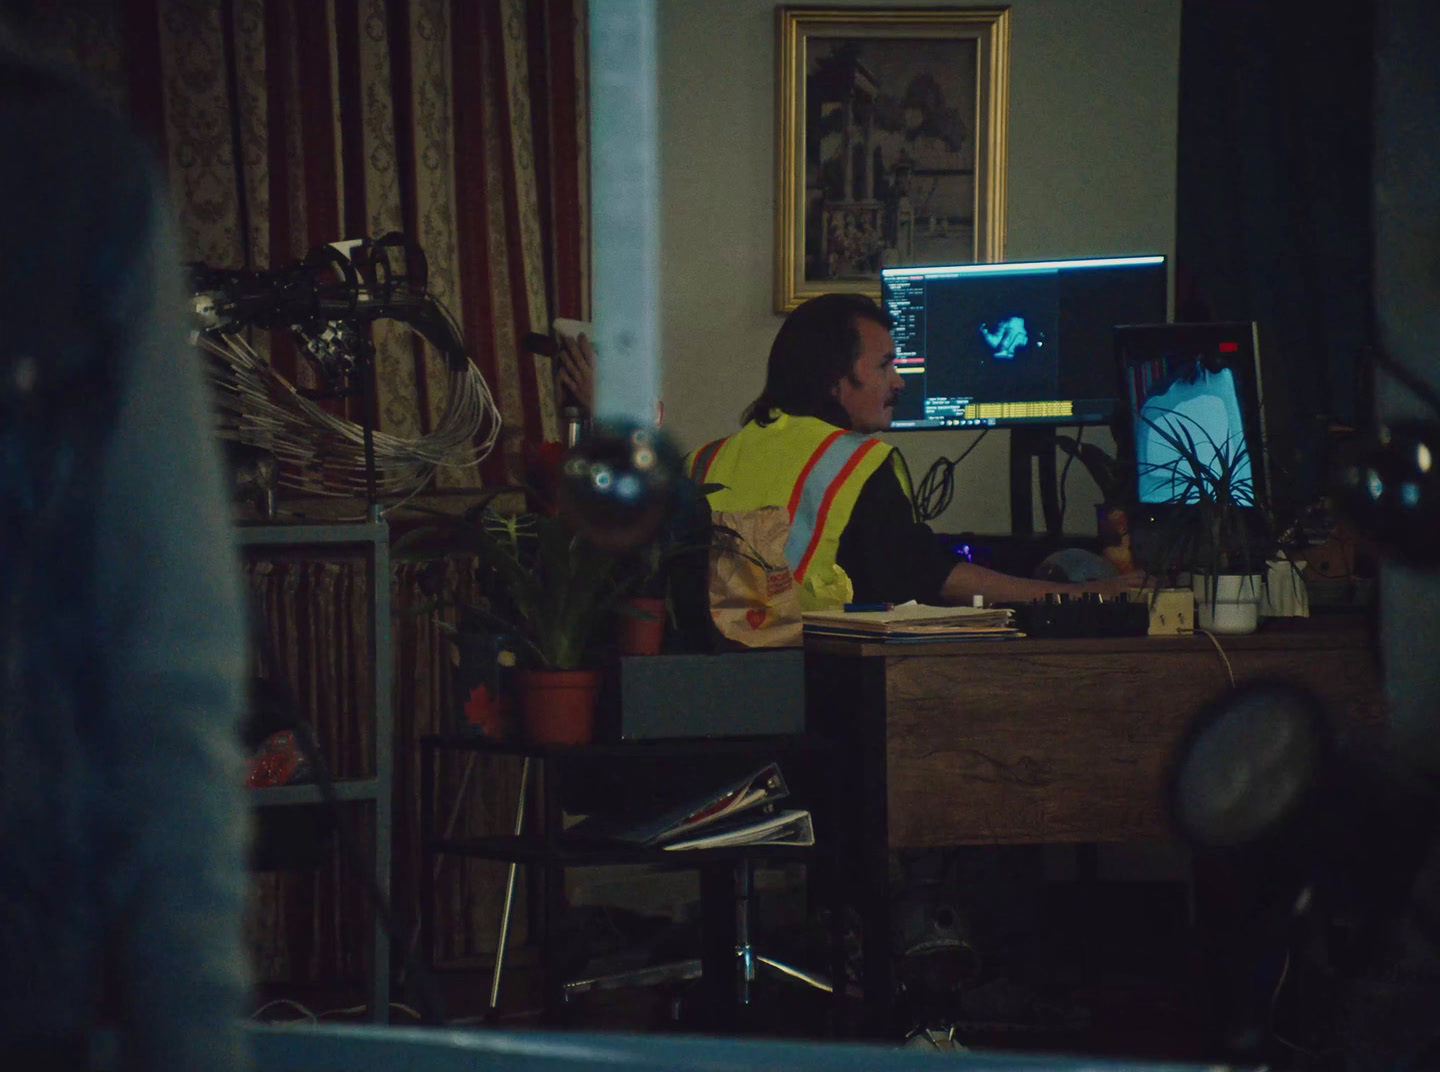
[[[710,618],[727,646],[799,647],[799,588],[785,560],[785,507],[716,510],[710,549]]]

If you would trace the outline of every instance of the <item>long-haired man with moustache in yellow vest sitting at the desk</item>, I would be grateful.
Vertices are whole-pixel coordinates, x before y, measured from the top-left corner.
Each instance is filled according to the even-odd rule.
[[[805,609],[848,602],[1022,602],[1048,592],[1113,595],[1138,573],[1066,584],[956,560],[916,519],[904,458],[876,432],[890,426],[904,380],[893,321],[863,294],[811,298],[780,326],[765,390],[734,435],[688,460],[700,484],[720,484],[713,510],[788,506],[786,560]]]

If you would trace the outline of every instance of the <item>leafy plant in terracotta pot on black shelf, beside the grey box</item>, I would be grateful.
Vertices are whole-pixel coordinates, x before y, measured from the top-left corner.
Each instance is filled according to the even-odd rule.
[[[624,595],[618,558],[537,510],[503,514],[490,501],[405,533],[397,553],[474,556],[484,598],[462,607],[471,622],[514,640],[526,732],[541,743],[592,739],[600,686],[598,650]]]

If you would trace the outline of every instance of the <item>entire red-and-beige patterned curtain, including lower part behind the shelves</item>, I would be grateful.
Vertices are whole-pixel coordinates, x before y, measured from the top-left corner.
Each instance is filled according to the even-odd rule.
[[[189,261],[282,267],[320,244],[390,231],[420,245],[431,290],[504,419],[500,448],[449,488],[518,478],[524,445],[559,438],[547,360],[520,340],[554,316],[589,316],[585,0],[85,0],[37,4],[35,19],[33,33],[148,135]],[[315,386],[287,339],[253,341],[291,382]],[[380,426],[425,434],[445,408],[444,365],[406,331],[377,324],[374,341]],[[271,648],[264,673],[294,694],[337,777],[367,772],[369,726],[356,713],[369,709],[363,563],[266,552],[246,571]],[[467,582],[445,584],[454,595]],[[446,729],[452,709],[451,654],[422,612],[428,598],[416,568],[396,565],[397,973],[418,919],[418,741]],[[504,831],[517,781],[507,761],[448,761],[441,821],[465,788],[456,836]],[[488,958],[503,875],[446,863],[442,964]],[[363,886],[334,852],[314,870],[261,877],[259,980],[340,980],[363,993]]]

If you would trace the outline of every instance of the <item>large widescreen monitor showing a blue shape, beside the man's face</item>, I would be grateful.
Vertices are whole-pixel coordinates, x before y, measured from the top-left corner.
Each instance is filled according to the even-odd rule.
[[[1115,327],[1166,317],[1165,258],[886,268],[896,369],[891,428],[1106,424]]]

